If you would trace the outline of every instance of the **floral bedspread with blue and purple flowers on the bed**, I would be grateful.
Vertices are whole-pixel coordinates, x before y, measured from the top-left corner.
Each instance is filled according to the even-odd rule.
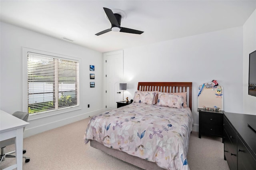
[[[96,140],[168,170],[189,170],[186,155],[191,130],[188,107],[132,103],[92,117],[84,142]]]

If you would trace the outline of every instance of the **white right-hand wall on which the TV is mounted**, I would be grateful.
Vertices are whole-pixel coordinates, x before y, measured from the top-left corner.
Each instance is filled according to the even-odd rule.
[[[248,95],[249,53],[256,50],[256,10],[254,10],[252,15],[244,23],[243,34],[244,34],[244,41],[243,41],[244,111],[243,113],[256,115],[256,97]]]

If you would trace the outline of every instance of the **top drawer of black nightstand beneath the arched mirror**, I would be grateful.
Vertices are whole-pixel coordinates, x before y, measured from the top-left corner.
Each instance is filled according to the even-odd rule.
[[[205,114],[202,113],[201,116],[201,123],[202,124],[209,124],[209,125],[217,125],[222,126],[223,124],[223,115],[221,114]]]

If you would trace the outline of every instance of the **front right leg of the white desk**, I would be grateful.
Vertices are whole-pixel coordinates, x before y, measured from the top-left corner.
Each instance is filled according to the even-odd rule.
[[[17,170],[22,170],[23,127],[16,130],[15,150]]]

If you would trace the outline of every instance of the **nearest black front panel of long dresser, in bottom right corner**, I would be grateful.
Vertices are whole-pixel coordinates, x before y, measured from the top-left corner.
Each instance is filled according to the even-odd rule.
[[[239,137],[237,144],[238,170],[254,170],[256,168],[256,160]]]

